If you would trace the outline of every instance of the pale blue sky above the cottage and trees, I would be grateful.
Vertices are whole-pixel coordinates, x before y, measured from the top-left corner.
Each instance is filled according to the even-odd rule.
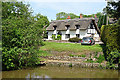
[[[56,19],[59,12],[82,14],[96,14],[102,12],[106,6],[105,0],[24,0],[33,9],[33,15],[38,13],[47,16],[49,21]]]

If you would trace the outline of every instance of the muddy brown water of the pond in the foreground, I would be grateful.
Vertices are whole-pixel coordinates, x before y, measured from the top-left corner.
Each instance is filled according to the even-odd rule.
[[[118,71],[42,66],[15,71],[3,71],[2,78],[118,78]]]

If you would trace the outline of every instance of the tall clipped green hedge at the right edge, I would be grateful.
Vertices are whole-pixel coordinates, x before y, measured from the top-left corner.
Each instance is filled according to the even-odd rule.
[[[101,40],[105,44],[104,54],[110,65],[119,63],[120,58],[120,25],[117,24],[102,26]]]

